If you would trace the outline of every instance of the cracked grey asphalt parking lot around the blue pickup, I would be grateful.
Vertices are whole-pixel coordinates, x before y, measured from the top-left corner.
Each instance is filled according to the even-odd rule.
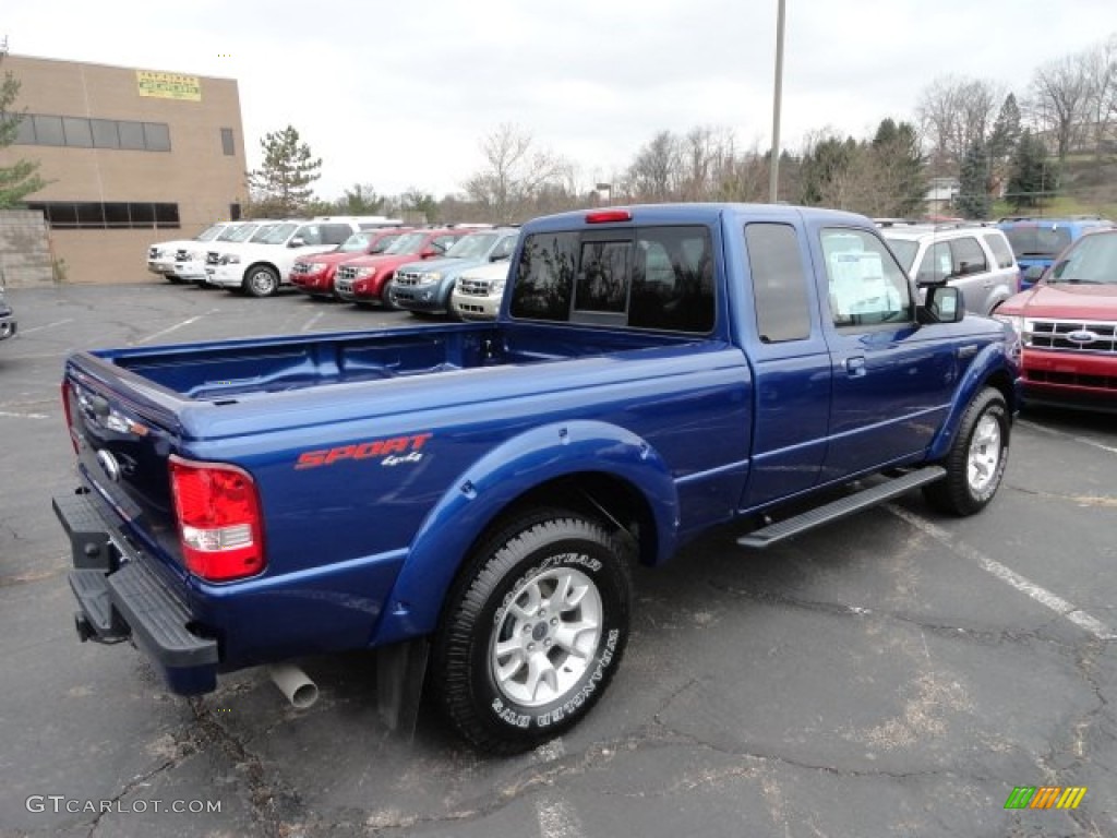
[[[763,553],[718,532],[639,572],[629,650],[594,712],[491,759],[427,707],[413,742],[389,734],[365,656],[305,661],[322,691],[305,712],[259,670],[185,701],[71,623],[50,511],[74,485],[67,352],[407,314],[155,282],[9,298],[0,835],[1117,835],[1111,417],[1027,412],[972,518],[916,493]],[[1006,810],[1021,785],[1087,791],[1075,810]]]

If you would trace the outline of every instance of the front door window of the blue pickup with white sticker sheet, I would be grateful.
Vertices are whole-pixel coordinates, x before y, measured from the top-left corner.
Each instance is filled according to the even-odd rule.
[[[880,239],[867,230],[825,228],[821,245],[836,326],[914,317],[907,277]]]

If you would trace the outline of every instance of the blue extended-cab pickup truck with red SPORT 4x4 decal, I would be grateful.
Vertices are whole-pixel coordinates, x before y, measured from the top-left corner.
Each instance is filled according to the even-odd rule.
[[[375,649],[393,723],[427,676],[468,741],[529,747],[617,670],[633,562],[916,487],[984,507],[1019,358],[957,289],[920,302],[860,216],[540,218],[495,322],[70,355],[77,630],[179,694],[269,665],[304,703],[292,659]]]

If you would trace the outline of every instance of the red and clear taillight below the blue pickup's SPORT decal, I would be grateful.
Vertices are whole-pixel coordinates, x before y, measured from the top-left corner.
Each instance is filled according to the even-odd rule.
[[[260,501],[251,476],[235,466],[174,455],[170,470],[187,568],[211,582],[264,570]]]

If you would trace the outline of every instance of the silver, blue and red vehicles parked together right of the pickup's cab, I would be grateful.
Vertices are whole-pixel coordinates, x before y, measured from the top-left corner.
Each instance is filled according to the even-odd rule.
[[[1117,226],[1096,217],[923,223],[878,219],[920,288],[1021,336],[1024,400],[1117,412]]]

